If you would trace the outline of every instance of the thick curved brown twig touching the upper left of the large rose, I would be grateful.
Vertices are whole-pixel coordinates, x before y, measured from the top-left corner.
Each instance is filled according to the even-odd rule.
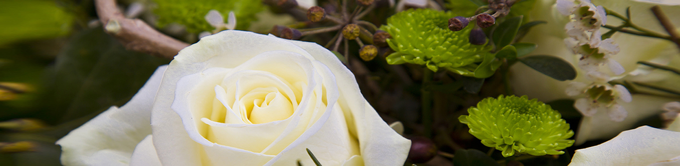
[[[104,27],[108,24],[118,24],[116,31],[107,31],[107,33],[116,37],[128,50],[173,59],[177,52],[189,46],[187,43],[156,31],[142,20],[125,18],[116,7],[115,0],[96,0],[95,7]]]

